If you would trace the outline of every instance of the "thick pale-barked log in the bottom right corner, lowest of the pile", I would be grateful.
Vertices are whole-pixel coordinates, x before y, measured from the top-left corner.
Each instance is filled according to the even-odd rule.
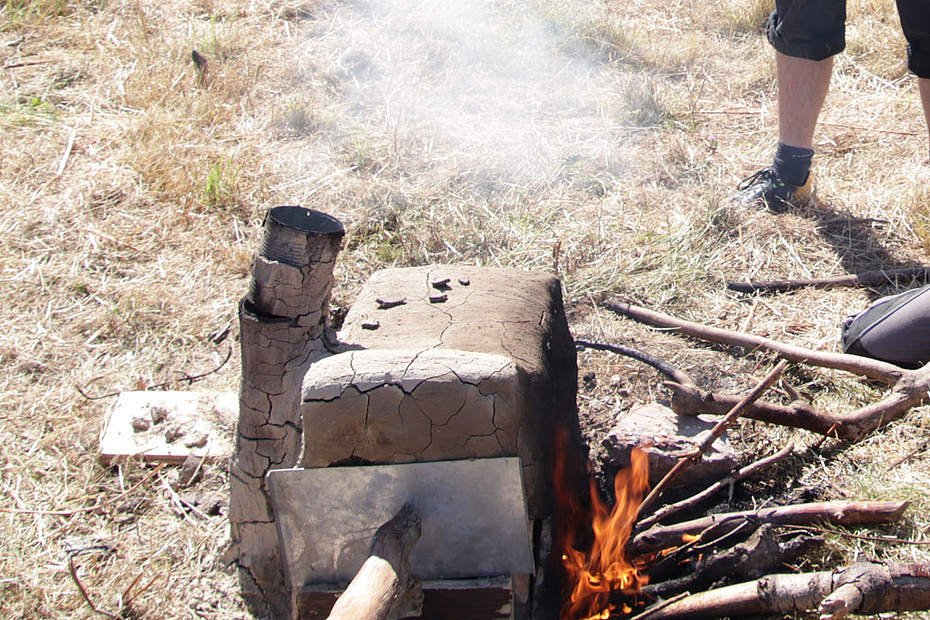
[[[689,620],[814,609],[820,620],[930,609],[930,566],[857,562],[833,571],[769,575],[684,597],[648,618]]]

